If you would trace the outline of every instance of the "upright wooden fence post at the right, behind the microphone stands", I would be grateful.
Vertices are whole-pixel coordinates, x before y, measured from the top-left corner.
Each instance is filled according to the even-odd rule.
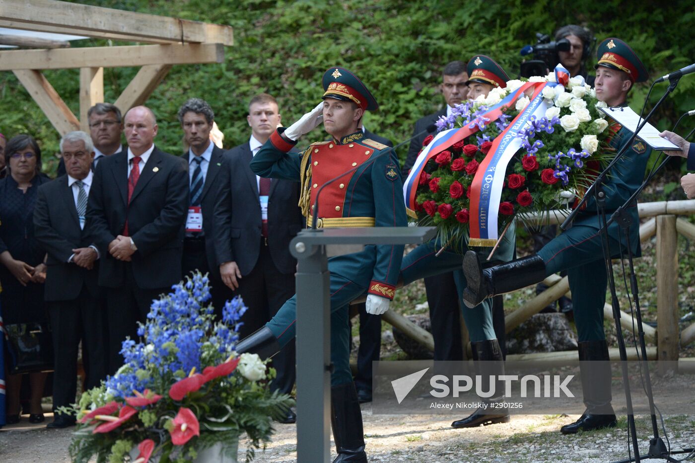
[[[656,218],[658,358],[678,360],[678,236],[676,216]],[[665,374],[666,371],[660,373]]]

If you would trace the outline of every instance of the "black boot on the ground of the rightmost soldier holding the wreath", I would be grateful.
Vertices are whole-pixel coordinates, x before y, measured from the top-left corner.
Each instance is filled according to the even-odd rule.
[[[569,425],[560,428],[562,434],[591,431],[601,428],[614,428],[618,423],[610,401],[610,359],[606,341],[586,341],[579,343],[580,371],[582,372],[582,394],[587,409],[584,414]],[[604,362],[584,363],[589,360]]]

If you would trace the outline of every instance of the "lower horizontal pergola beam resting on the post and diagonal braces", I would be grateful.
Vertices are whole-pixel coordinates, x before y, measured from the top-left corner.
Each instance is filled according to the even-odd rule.
[[[220,43],[0,51],[0,71],[222,62],[224,46]]]

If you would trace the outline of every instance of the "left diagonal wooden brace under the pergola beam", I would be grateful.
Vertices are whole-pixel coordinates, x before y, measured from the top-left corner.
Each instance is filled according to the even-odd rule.
[[[16,70],[15,76],[22,83],[29,95],[44,112],[53,127],[60,133],[79,130],[80,122],[60,98],[43,74],[34,70]]]

